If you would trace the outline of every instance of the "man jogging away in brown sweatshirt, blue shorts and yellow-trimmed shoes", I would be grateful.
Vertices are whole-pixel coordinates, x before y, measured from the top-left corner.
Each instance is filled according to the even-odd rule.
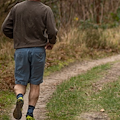
[[[35,109],[43,82],[45,49],[56,43],[57,30],[53,12],[40,0],[27,0],[15,5],[2,25],[3,33],[14,39],[15,51],[15,119],[21,119],[26,86],[30,83],[29,106],[26,120],[35,120]]]

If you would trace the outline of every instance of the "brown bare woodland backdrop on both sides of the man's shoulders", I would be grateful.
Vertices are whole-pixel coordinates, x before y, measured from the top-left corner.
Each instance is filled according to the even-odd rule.
[[[24,0],[0,0],[0,11],[6,12]],[[120,0],[41,0],[58,11],[61,25],[67,26],[76,20],[91,20],[96,23],[109,22],[111,13],[116,13]],[[54,6],[57,6],[54,8]]]

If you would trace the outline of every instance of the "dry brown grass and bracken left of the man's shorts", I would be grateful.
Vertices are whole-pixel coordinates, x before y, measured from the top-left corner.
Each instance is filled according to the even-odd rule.
[[[14,66],[13,66],[13,41],[0,37],[0,89],[13,89]]]

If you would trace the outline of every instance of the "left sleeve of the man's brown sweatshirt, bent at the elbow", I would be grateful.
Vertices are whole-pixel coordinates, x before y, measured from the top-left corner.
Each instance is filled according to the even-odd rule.
[[[2,24],[2,32],[9,38],[13,38],[13,9],[9,12]]]

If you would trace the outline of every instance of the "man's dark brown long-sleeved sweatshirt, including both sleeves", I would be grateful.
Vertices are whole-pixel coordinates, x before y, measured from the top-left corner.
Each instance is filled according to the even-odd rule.
[[[40,47],[56,43],[57,29],[50,7],[38,1],[15,5],[2,25],[3,33],[14,39],[14,48]]]

